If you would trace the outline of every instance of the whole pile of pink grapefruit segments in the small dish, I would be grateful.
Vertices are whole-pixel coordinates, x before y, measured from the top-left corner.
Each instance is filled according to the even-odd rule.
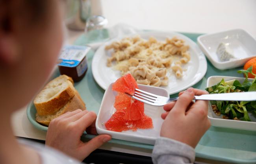
[[[133,95],[137,83],[131,74],[126,74],[112,85],[112,90],[118,92],[114,107],[117,110],[105,123],[109,131],[137,131],[137,129],[153,128],[152,119],[144,114],[144,103],[128,96]]]

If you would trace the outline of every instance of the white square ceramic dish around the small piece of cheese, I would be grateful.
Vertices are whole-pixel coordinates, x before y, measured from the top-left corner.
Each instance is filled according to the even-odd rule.
[[[243,29],[201,35],[197,42],[210,62],[220,70],[242,66],[252,57],[256,57],[256,39]],[[221,42],[233,50],[236,59],[224,62],[219,60],[216,51]]]

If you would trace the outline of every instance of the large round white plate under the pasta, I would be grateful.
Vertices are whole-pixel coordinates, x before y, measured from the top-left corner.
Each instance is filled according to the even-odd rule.
[[[175,32],[143,32],[138,33],[143,39],[148,39],[149,37],[155,37],[159,41],[165,41],[167,37],[178,37],[183,39],[187,45],[190,46],[189,52],[191,54],[191,60],[184,65],[185,69],[184,76],[181,79],[177,79],[175,75],[170,72],[167,73],[169,77],[168,86],[165,88],[169,94],[174,94],[185,90],[188,87],[195,85],[202,77],[204,77],[207,70],[207,63],[204,54],[198,48],[197,44],[193,42],[188,37],[175,33]],[[138,35],[136,34],[136,35]],[[134,35],[130,35],[134,36]],[[127,37],[127,36],[126,36]],[[122,37],[123,38],[123,37]],[[95,81],[104,90],[113,82],[115,82],[119,77],[121,77],[121,72],[119,70],[114,70],[112,67],[107,67],[107,59],[111,56],[111,51],[106,51],[105,46],[111,44],[113,41],[120,41],[122,38],[112,39],[98,48],[95,52],[92,61],[92,72]]]

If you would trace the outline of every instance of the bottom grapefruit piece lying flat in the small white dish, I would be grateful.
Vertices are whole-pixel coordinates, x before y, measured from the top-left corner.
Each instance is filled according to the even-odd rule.
[[[139,120],[124,120],[123,112],[115,112],[111,118],[105,123],[105,127],[109,131],[137,131],[137,129],[151,129],[153,128],[152,119],[144,115]]]

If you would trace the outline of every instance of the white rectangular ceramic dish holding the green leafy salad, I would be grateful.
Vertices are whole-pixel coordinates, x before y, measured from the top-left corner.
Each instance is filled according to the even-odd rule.
[[[219,83],[222,78],[225,81],[236,79],[240,83],[243,83],[243,81],[245,80],[245,78],[243,78],[243,77],[211,76],[207,79],[207,87],[211,87],[211,86]],[[249,79],[249,80],[252,81],[252,79]],[[241,129],[241,130],[248,130],[248,131],[256,131],[256,118],[250,112],[249,112],[249,117],[251,119],[251,122],[223,119],[222,115],[217,116],[213,112],[210,102],[209,102],[208,118],[210,119],[212,126],[226,127],[226,128],[232,128],[232,129]]]

